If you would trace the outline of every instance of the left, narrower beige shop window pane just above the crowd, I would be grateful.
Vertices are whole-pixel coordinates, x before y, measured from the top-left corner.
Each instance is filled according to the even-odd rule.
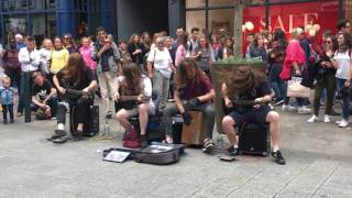
[[[190,33],[191,28],[197,26],[201,31],[206,30],[206,11],[186,12],[186,31]]]

